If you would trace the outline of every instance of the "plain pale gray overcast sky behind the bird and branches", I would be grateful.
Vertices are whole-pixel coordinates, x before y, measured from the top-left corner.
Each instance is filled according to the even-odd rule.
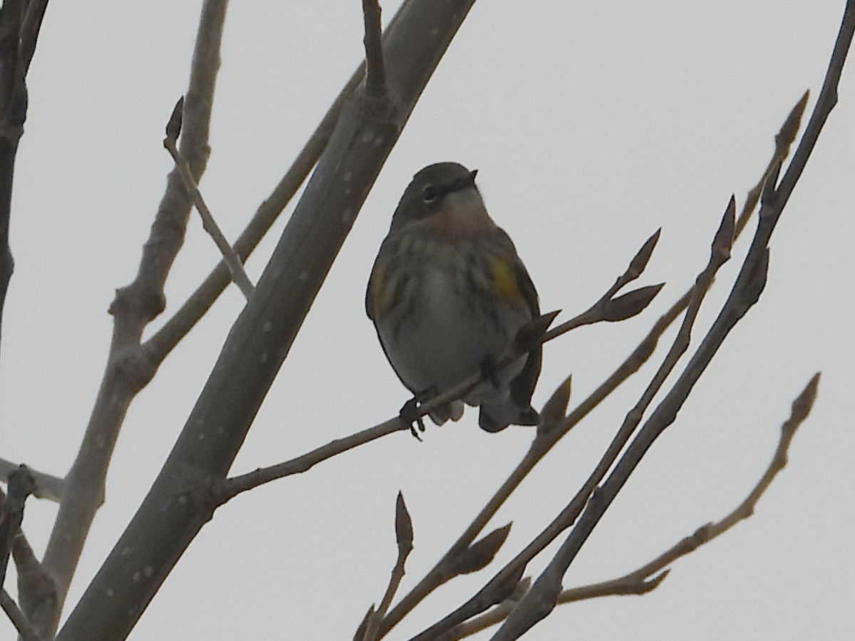
[[[587,308],[663,227],[642,279],[667,282],[652,308],[616,326],[571,332],[545,350],[535,406],[568,373],[571,403],[585,397],[704,267],[730,194],[741,205],[807,88],[812,109],[843,5],[476,4],[380,173],[234,471],[373,425],[406,400],[363,296],[398,197],[431,162],[480,170],[487,207],[514,238],[541,307],[563,309],[565,319]],[[115,288],[133,279],[171,168],[163,125],[186,90],[200,6],[50,4],[15,176],[16,271],[0,364],[4,458],[56,474],[74,458],[109,344],[106,309]],[[384,7],[387,18],[395,6]],[[229,238],[284,173],[361,47],[358,2],[233,3],[202,182]],[[634,473],[565,585],[626,573],[733,509],[769,462],[793,398],[822,370],[788,467],[751,520],[675,563],[657,591],[564,606],[532,638],[825,639],[855,628],[852,64],[775,231],[760,303]],[[722,270],[696,337],[726,296],[747,239]],[[272,241],[248,264],[254,280]],[[194,215],[168,281],[167,312],[153,326],[217,260]],[[231,287],[133,403],[69,605],[150,487],[240,307]],[[514,527],[501,560],[569,500],[652,370],[577,426],[502,509],[493,526],[513,520]],[[457,424],[429,428],[422,444],[398,434],[239,497],[205,526],[132,638],[351,638],[394,562],[398,490],[416,532],[406,590],[529,441],[522,427],[481,432],[469,411]],[[28,505],[25,529],[37,550],[54,514],[48,503]],[[446,585],[394,638],[444,615],[486,576]],[[0,636],[8,634],[3,620]]]

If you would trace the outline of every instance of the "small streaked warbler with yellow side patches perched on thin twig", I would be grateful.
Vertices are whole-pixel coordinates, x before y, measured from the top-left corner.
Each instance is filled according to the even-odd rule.
[[[480,405],[478,424],[498,432],[540,418],[530,404],[540,346],[492,371],[540,309],[514,244],[486,212],[475,173],[457,162],[416,173],[374,261],[365,309],[386,358],[419,403],[485,372],[463,401]],[[442,425],[462,415],[456,401],[430,416]]]

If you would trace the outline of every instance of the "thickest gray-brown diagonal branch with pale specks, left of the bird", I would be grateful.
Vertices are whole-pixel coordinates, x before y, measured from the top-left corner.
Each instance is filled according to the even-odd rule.
[[[125,638],[209,520],[210,481],[231,467],[380,167],[470,5],[409,3],[387,33],[386,82],[400,102],[357,94],[342,112],[162,472],[59,639]],[[105,612],[100,604],[108,587],[113,597]]]

